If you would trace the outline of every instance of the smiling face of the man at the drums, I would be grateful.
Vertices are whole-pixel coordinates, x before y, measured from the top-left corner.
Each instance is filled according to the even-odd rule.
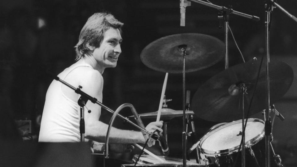
[[[116,62],[122,52],[121,42],[122,37],[119,29],[109,28],[104,33],[101,45],[95,48],[93,52],[93,56],[100,67],[116,67]]]

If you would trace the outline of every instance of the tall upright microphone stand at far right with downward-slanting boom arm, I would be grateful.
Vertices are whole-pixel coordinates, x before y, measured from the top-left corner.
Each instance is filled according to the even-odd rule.
[[[265,51],[266,51],[266,111],[270,109],[270,90],[269,90],[269,29],[271,22],[271,15],[273,11],[273,7],[277,7],[282,12],[284,12],[287,16],[297,22],[297,18],[291,15],[288,11],[282,8],[273,0],[267,0],[265,2]],[[271,120],[270,113],[266,112],[266,121],[265,121],[265,151],[266,151],[266,167],[270,167],[270,139],[271,139]]]

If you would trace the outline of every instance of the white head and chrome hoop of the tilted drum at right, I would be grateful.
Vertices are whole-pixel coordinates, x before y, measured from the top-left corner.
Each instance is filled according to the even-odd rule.
[[[200,149],[208,156],[237,152],[242,139],[242,120],[222,125],[203,136]],[[245,131],[245,146],[252,146],[264,137],[264,121],[249,118]]]

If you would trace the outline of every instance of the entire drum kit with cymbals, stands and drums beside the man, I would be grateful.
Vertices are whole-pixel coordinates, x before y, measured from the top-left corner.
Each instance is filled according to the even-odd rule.
[[[199,71],[216,64],[224,58],[225,51],[225,44],[213,36],[182,33],[165,36],[151,42],[142,50],[140,58],[147,67],[155,71],[183,73],[184,88],[184,73]],[[267,109],[265,110],[267,90],[265,63],[267,61],[263,60],[253,58],[248,62],[226,68],[207,80],[192,98],[191,109],[193,111],[189,108],[190,96],[187,92],[185,100],[186,93],[183,90],[183,110],[167,108],[166,102],[169,100],[161,95],[163,108],[156,112],[139,114],[139,117],[142,119],[158,118],[160,114],[161,120],[170,120],[183,116],[186,122],[190,122],[192,130],[190,133],[194,134],[196,143],[187,150],[186,156],[195,150],[196,163],[186,161],[186,166],[265,166],[267,160],[264,139],[268,112],[266,112]],[[279,61],[269,62],[269,84],[273,90],[269,92],[271,104],[285,95],[292,84],[293,76],[293,70],[288,64]],[[250,115],[261,111],[264,113],[264,121],[249,118]],[[274,112],[283,118],[274,105],[271,106],[269,112]],[[223,123],[210,128],[198,140],[195,139],[197,137],[195,137],[193,115],[203,120]],[[167,139],[167,123],[168,121],[164,121],[164,136],[166,142],[170,142]],[[183,129],[182,134],[190,136],[187,131]],[[187,143],[185,140],[183,142]],[[270,146],[276,165],[282,166],[280,156],[274,153],[271,142]],[[183,147],[185,147],[184,144]],[[185,166],[184,155],[183,159],[167,156],[158,156],[159,158],[155,159],[149,155],[137,157],[138,155],[133,158],[134,161],[138,159],[138,164],[135,166]],[[134,166],[134,164],[122,165],[122,167],[125,166]]]

